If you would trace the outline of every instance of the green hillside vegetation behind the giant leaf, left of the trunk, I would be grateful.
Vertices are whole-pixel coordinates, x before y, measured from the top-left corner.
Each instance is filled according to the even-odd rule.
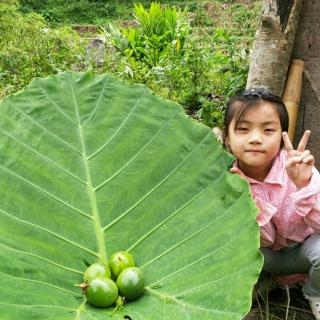
[[[147,12],[150,3],[141,1]],[[260,2],[164,4],[181,9],[176,38],[160,39],[167,25],[162,35],[146,35],[133,1],[2,0],[0,98],[63,70],[109,72],[144,83],[206,125],[220,126],[226,100],[245,86]],[[144,59],[119,50],[112,30],[131,36],[131,47],[140,47],[140,55],[144,50]],[[161,46],[161,55],[152,57]]]

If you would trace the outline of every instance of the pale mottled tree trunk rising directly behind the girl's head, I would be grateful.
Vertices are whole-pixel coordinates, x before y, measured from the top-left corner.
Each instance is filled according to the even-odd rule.
[[[263,0],[247,88],[263,86],[282,96],[302,0]]]

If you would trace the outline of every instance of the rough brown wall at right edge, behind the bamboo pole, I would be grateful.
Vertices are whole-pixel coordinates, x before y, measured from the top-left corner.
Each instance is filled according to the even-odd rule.
[[[294,144],[303,132],[311,130],[307,148],[315,156],[320,169],[320,1],[304,0],[298,31],[293,48],[293,58],[305,62],[301,104],[298,114]]]

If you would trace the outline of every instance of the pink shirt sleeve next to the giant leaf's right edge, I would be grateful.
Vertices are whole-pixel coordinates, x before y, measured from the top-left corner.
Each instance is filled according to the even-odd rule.
[[[260,226],[260,244],[261,247],[270,247],[275,240],[275,228],[271,218],[277,212],[277,208],[258,197],[255,197],[255,202],[260,209],[257,216],[257,222]]]

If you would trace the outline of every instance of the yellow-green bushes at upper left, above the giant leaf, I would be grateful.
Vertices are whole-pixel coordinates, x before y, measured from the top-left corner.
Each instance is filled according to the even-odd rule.
[[[81,62],[78,34],[69,27],[49,29],[40,15],[22,15],[16,6],[0,5],[0,34],[0,98]]]

